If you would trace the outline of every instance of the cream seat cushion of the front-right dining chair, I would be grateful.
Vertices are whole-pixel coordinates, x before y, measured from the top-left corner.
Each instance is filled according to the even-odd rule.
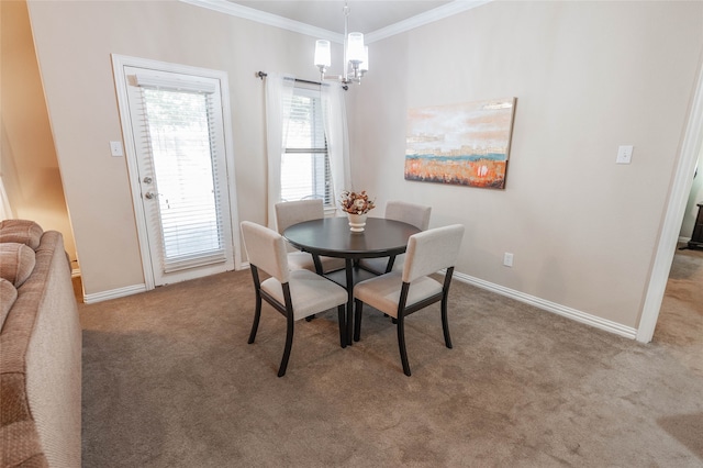
[[[402,271],[391,271],[367,279],[354,287],[354,297],[379,311],[398,317],[398,301],[403,286]],[[410,285],[405,307],[442,292],[442,283],[429,278],[417,278]]]

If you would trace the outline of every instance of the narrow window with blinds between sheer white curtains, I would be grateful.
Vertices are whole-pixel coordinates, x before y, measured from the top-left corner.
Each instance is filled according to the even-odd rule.
[[[320,198],[334,205],[319,87],[295,82],[281,157],[281,200]]]

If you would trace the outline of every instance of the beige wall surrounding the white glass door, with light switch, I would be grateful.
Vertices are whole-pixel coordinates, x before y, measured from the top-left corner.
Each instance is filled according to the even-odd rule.
[[[241,220],[266,221],[264,83],[308,78],[314,37],[177,1],[30,1],[40,68],[64,174],[86,294],[144,283],[111,54],[228,74]]]

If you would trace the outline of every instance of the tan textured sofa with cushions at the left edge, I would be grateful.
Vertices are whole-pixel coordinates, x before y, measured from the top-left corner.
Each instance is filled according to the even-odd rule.
[[[64,238],[0,222],[0,463],[79,467],[81,328]]]

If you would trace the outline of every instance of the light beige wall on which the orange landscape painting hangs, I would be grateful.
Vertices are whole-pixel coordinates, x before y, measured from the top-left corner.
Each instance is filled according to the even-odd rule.
[[[702,20],[698,2],[493,2],[372,44],[352,153],[373,170],[357,188],[466,224],[458,271],[636,328]],[[505,190],[403,179],[408,108],[504,97],[517,98]],[[631,165],[615,165],[622,144]]]

